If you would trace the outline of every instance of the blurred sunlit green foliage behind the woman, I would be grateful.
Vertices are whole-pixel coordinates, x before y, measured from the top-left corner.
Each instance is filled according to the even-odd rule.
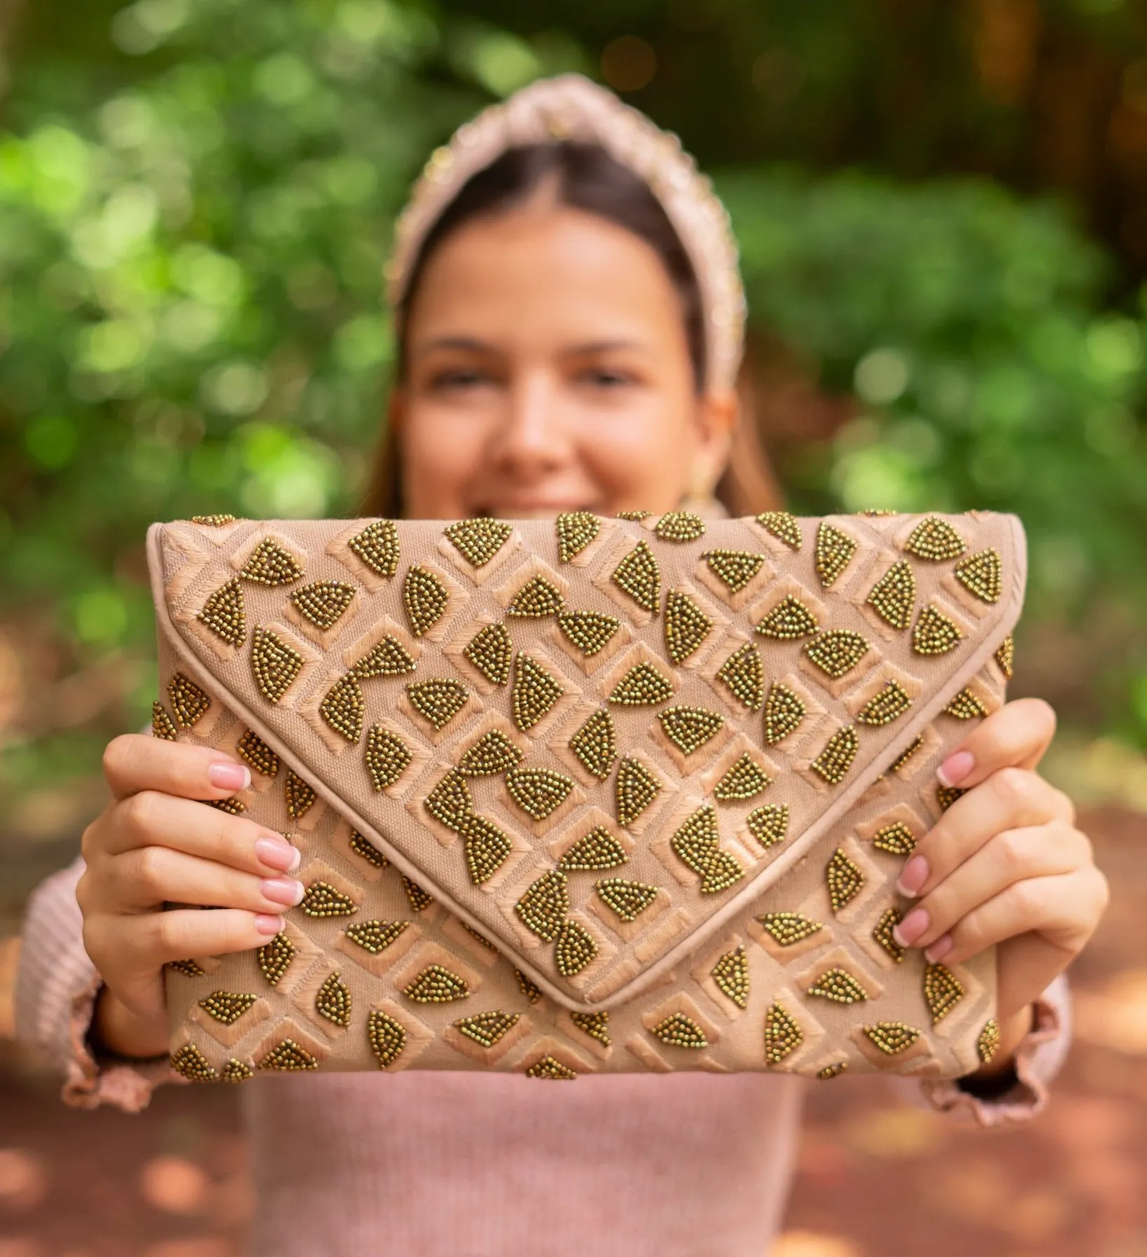
[[[572,36],[398,0],[137,0],[109,35],[132,73],[33,67],[0,133],[0,613],[28,688],[119,667],[126,698],[36,706],[16,784],[143,719],[148,522],[354,509],[411,178],[491,96],[592,69]],[[754,319],[864,403],[786,456],[794,505],[1018,510],[1029,617],[1142,623],[1143,312],[1103,309],[1065,214],[986,182],[717,184]],[[1147,657],[1088,667],[1083,718],[1147,743]]]

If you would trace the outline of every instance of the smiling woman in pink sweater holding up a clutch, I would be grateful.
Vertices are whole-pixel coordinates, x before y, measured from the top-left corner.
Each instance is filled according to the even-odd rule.
[[[724,210],[673,138],[603,89],[543,80],[462,127],[427,163],[389,279],[398,372],[366,514],[779,507],[737,453],[744,298]],[[1062,973],[1107,901],[1070,801],[1036,772],[1054,724],[1020,699],[976,725],[938,771],[966,793],[898,887],[916,901],[901,945],[950,963],[999,945],[996,1056],[905,1084],[984,1124],[1045,1102],[1068,1041]],[[261,945],[303,886],[281,836],[200,802],[244,789],[244,764],[128,734],[104,771],[111,802],[82,859],[29,906],[18,1017],[67,1072],[69,1102],[138,1110],[175,1077],[163,964]],[[242,1089],[251,1251],[760,1257],[803,1086],[260,1076]]]

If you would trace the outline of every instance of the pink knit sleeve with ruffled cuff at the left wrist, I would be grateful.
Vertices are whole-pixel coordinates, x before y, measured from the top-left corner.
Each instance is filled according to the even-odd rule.
[[[148,1061],[93,1053],[88,1042],[103,982],[83,945],[75,903],[82,859],[33,892],[16,970],[16,1038],[45,1052],[64,1076],[60,1096],[79,1109],[111,1104],[138,1112],[161,1082],[183,1082],[166,1057]]]

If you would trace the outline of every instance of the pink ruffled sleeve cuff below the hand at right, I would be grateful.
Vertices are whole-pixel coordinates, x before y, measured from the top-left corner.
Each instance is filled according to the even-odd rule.
[[[1031,1029],[1015,1051],[1011,1086],[989,1096],[965,1090],[959,1079],[922,1080],[923,1100],[965,1124],[1026,1121],[1046,1106],[1049,1085],[1063,1067],[1070,1041],[1070,991],[1067,977],[1060,974],[1033,1006]]]

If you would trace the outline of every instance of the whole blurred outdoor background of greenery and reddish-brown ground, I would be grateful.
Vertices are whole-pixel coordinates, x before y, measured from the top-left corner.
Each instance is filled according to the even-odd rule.
[[[1014,695],[1114,903],[1046,1115],[814,1097],[781,1257],[1147,1254],[1147,6],[1134,0],[0,0],[0,1257],[229,1257],[234,1096],[64,1110],[15,935],[155,685],[142,538],[353,513],[381,264],[431,148],[579,69],[734,217],[744,395],[791,509],[1016,512]]]

